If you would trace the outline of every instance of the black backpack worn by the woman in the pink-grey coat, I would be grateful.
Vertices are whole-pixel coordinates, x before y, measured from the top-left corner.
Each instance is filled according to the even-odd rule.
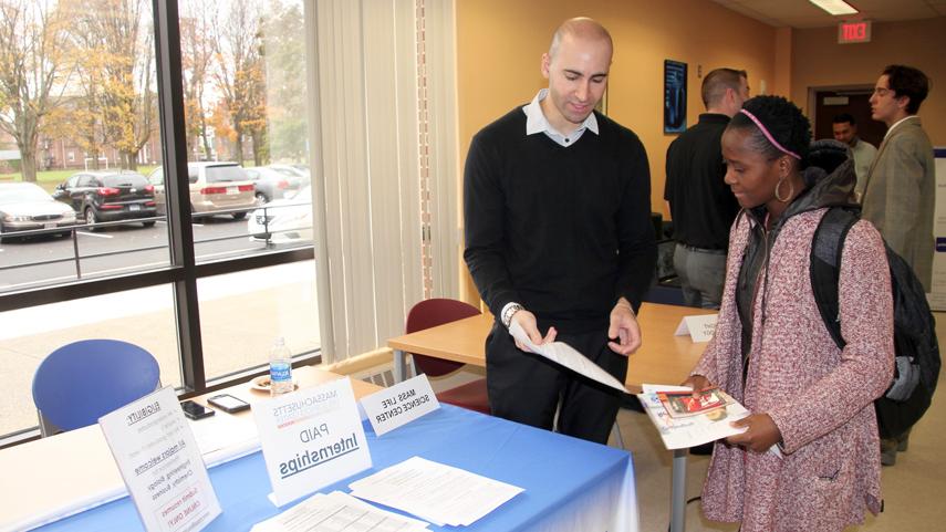
[[[838,304],[841,252],[848,231],[860,219],[852,208],[832,207],[824,213],[811,246],[811,288],[828,332],[843,348]],[[874,401],[882,438],[895,438],[929,408],[939,378],[939,343],[926,293],[913,269],[886,242],[894,306],[896,368],[891,387]]]

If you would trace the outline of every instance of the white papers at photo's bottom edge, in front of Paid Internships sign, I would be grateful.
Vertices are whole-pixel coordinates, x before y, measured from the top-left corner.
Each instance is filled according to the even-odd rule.
[[[422,532],[427,523],[375,508],[354,497],[333,491],[315,493],[250,532]]]

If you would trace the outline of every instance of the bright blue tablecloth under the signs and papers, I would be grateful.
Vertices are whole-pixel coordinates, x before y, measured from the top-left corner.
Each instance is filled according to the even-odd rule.
[[[349,491],[347,484],[356,478],[420,456],[526,489],[470,526],[430,525],[430,530],[637,530],[634,473],[627,451],[449,405],[381,438],[365,423],[365,436],[374,466],[320,491]],[[210,469],[210,480],[223,511],[205,530],[250,530],[290,508],[278,509],[267,499],[271,488],[260,452]],[[37,530],[124,532],[143,526],[125,497]]]

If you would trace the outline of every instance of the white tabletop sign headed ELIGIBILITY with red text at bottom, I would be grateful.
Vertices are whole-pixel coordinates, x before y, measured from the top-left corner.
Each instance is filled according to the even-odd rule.
[[[220,514],[194,432],[167,386],[98,426],[148,532],[194,532]]]

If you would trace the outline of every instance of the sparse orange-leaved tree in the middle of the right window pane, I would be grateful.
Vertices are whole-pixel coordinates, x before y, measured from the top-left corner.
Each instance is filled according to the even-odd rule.
[[[243,161],[243,137],[249,135],[253,159],[268,159],[266,146],[266,77],[261,13],[252,0],[233,0],[215,32],[215,80],[230,118],[233,158]]]

